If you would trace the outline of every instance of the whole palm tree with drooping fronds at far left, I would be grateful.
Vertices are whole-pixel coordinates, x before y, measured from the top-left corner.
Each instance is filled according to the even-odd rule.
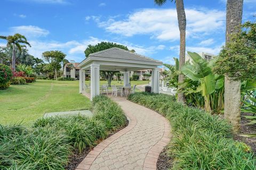
[[[29,47],[30,44],[27,41],[25,36],[20,35],[19,33],[15,33],[13,36],[0,36],[0,39],[7,40],[7,47],[12,46],[12,70],[15,71],[15,64],[16,64],[16,47],[19,51],[22,50],[22,44],[26,44]]]

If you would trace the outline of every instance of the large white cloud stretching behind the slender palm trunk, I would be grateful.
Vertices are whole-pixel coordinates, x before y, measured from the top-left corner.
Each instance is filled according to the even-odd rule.
[[[187,35],[211,33],[225,29],[226,13],[218,10],[208,9],[186,9]],[[122,36],[152,35],[151,38],[159,40],[178,40],[179,27],[177,12],[171,9],[143,9],[131,13],[124,20],[113,18],[107,21],[96,21],[99,27],[108,32],[117,33]]]

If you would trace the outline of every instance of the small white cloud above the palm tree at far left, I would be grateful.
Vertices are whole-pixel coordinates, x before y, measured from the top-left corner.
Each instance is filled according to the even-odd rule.
[[[50,32],[46,29],[34,25],[21,25],[10,28],[11,33],[20,33],[28,38],[45,37]]]

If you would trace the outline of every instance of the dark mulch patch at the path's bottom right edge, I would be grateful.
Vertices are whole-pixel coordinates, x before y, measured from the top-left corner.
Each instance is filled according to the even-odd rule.
[[[156,163],[156,169],[157,170],[168,170],[173,166],[173,159],[168,156],[167,154],[167,148],[165,147],[161,154],[158,157],[157,163]]]

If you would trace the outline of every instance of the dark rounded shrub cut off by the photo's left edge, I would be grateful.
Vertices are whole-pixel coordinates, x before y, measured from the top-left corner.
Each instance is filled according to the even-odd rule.
[[[12,71],[9,66],[0,64],[0,89],[6,89],[10,86]]]

